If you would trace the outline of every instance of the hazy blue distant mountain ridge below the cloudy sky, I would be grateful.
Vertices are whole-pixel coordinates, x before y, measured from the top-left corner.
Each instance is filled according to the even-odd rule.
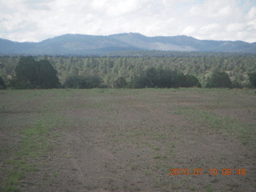
[[[1,55],[97,55],[124,50],[256,53],[256,42],[198,40],[185,35],[146,37],[136,33],[63,34],[42,42],[12,42],[0,38]]]

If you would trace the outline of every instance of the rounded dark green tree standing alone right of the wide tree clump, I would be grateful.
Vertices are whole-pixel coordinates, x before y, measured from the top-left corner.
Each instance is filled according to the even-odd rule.
[[[232,82],[226,72],[215,71],[210,78],[207,79],[206,87],[208,88],[231,88]]]

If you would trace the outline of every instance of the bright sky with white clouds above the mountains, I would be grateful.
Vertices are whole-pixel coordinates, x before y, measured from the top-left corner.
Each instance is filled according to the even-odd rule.
[[[187,35],[256,42],[256,0],[0,0],[0,38]]]

